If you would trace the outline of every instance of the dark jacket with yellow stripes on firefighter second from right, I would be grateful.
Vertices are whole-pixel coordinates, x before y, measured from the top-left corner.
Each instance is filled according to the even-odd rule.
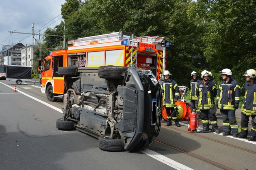
[[[230,97],[232,98],[232,101],[229,101],[228,91],[231,93]],[[239,83],[234,79],[230,79],[228,82],[223,81],[220,83],[216,102],[219,109],[235,110],[234,105],[239,105],[240,97],[241,88]]]

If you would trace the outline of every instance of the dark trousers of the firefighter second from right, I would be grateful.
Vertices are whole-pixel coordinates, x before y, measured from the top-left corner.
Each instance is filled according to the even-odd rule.
[[[222,128],[223,132],[231,132],[233,134],[239,133],[239,127],[236,121],[236,111],[235,110],[220,110],[223,119]]]

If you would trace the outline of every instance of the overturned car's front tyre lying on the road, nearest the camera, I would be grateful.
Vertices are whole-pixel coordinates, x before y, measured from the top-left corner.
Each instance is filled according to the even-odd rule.
[[[99,137],[99,148],[103,151],[121,152],[124,151],[121,139],[110,139],[110,135]]]

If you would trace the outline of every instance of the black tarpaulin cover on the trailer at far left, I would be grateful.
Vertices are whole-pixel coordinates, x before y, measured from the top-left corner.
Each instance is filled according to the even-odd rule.
[[[7,66],[7,79],[32,79],[32,67]]]

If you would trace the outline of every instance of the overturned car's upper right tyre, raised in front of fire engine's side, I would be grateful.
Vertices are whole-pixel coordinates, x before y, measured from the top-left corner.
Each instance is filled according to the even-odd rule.
[[[122,72],[126,71],[128,67],[121,66],[100,66],[98,75],[102,79],[124,79]]]

